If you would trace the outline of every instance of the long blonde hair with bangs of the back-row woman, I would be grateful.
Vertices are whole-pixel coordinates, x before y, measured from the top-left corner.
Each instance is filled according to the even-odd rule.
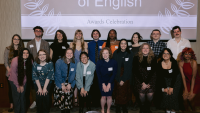
[[[73,51],[76,50],[76,41],[77,41],[76,34],[79,33],[79,32],[82,34],[82,37],[81,37],[81,49],[82,49],[82,51],[85,51],[85,43],[84,43],[84,38],[83,38],[83,32],[80,29],[77,29],[75,31],[74,39],[73,39],[73,42],[72,42],[72,49],[73,49]]]

